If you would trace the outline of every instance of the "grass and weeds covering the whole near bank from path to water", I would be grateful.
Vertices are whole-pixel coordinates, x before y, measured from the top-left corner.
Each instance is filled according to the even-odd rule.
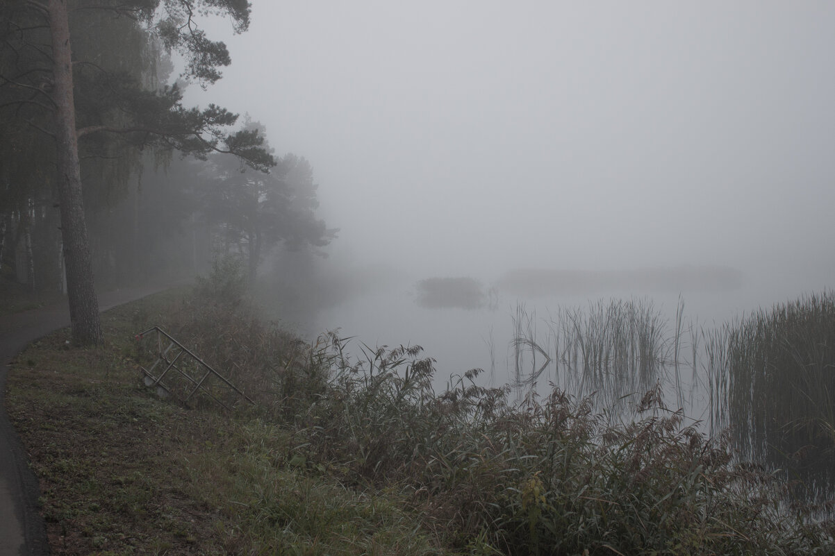
[[[188,295],[105,313],[103,346],[70,348],[64,330],[18,356],[8,412],[41,480],[53,553],[835,549],[835,523],[815,518],[826,504],[738,457],[733,433],[688,424],[659,387],[623,419],[559,389],[515,402],[510,387],[480,386],[478,370],[436,392],[420,346],[362,346],[357,358],[337,333],[308,344],[261,321],[244,284],[240,269],[215,266]],[[832,295],[813,299],[832,322]],[[804,307],[780,322],[801,321]],[[149,326],[256,403],[226,412],[205,397],[157,397],[139,369],[157,354],[134,338]]]

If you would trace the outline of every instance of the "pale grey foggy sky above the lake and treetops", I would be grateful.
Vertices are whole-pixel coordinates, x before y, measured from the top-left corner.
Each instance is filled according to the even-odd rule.
[[[832,285],[835,3],[252,4],[190,100],[311,161],[333,250]]]

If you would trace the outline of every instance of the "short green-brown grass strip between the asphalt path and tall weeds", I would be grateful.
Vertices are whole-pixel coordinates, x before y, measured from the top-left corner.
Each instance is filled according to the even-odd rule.
[[[41,480],[53,553],[436,552],[397,495],[285,465],[286,431],[144,389],[134,333],[164,321],[172,302],[109,311],[100,348],[48,336],[9,375],[8,411]]]

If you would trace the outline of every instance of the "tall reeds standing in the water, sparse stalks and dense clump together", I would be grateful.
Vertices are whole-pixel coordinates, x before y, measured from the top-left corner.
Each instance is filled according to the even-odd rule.
[[[640,392],[692,412],[711,437],[730,428],[741,459],[795,485],[790,499],[831,505],[835,488],[835,294],[824,292],[702,328],[670,323],[649,301],[596,301],[557,311],[537,336],[514,316],[514,381],[527,399],[542,377],[595,410],[629,419]],[[547,365],[535,363],[547,359]],[[535,363],[535,364],[534,364]],[[687,368],[690,377],[687,377]],[[552,374],[553,373],[553,374]],[[832,514],[832,508],[824,511]]]

